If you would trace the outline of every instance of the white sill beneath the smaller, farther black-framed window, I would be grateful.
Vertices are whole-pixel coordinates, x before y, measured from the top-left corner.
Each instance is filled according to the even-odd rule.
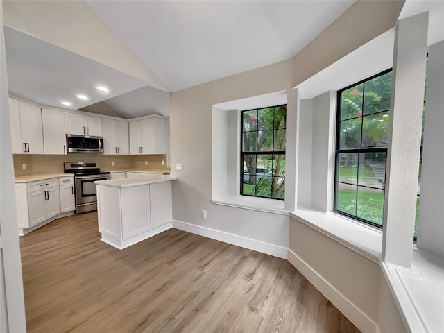
[[[284,201],[266,198],[257,198],[253,196],[225,196],[218,200],[211,200],[215,205],[224,205],[230,207],[244,208],[246,210],[257,210],[273,214],[288,215],[284,210]]]

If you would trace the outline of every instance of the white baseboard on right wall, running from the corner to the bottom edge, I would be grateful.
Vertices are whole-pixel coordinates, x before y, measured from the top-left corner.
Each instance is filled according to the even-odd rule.
[[[290,264],[304,275],[318,291],[321,291],[323,296],[330,300],[361,332],[380,333],[379,326],[375,321],[361,311],[343,293],[334,288],[332,284],[325,280],[314,268],[311,268],[307,262],[298,257],[296,253],[289,249],[287,257]]]

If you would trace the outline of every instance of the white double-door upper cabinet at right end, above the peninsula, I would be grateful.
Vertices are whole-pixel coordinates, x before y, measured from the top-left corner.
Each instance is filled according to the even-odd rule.
[[[165,121],[152,117],[130,121],[130,154],[164,154]]]

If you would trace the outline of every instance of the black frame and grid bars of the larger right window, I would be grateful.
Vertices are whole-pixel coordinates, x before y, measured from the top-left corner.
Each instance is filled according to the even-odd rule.
[[[358,180],[359,180],[359,160],[360,160],[360,155],[361,154],[365,154],[365,153],[385,153],[386,157],[387,157],[388,144],[387,144],[387,146],[380,147],[380,148],[376,148],[376,147],[366,147],[366,148],[363,148],[362,147],[362,141],[363,141],[362,133],[363,133],[363,127],[364,126],[362,126],[362,122],[364,121],[364,117],[368,117],[369,115],[373,116],[375,114],[382,114],[384,112],[391,112],[391,110],[390,110],[390,107],[389,107],[387,110],[380,110],[378,112],[366,115],[366,114],[364,114],[364,98],[363,98],[362,107],[361,107],[361,110],[362,110],[361,115],[359,115],[359,116],[357,116],[355,118],[343,119],[343,120],[347,121],[347,120],[350,120],[350,119],[361,118],[361,144],[360,144],[361,148],[341,149],[340,148],[341,147],[340,146],[340,140],[341,140],[341,135],[340,135],[340,133],[341,133],[341,94],[342,94],[342,92],[344,92],[344,91],[346,91],[346,90],[348,90],[348,89],[350,89],[352,87],[355,87],[357,85],[360,85],[360,84],[364,84],[364,89],[363,89],[363,94],[364,94],[365,93],[365,83],[366,82],[368,82],[370,80],[373,80],[374,78],[378,78],[379,76],[383,76],[385,74],[388,74],[392,70],[393,69],[391,69],[391,68],[390,69],[386,69],[385,71],[381,71],[378,74],[375,74],[373,76],[365,78],[364,80],[360,80],[357,83],[353,83],[352,85],[349,85],[348,87],[344,87],[343,89],[341,89],[341,90],[339,90],[337,92],[337,101],[336,101],[336,133],[335,133],[335,151],[334,151],[334,201],[333,201],[334,207],[333,207],[333,210],[334,210],[334,212],[336,212],[338,214],[341,214],[341,215],[344,215],[344,216],[348,216],[351,219],[360,221],[362,223],[366,223],[368,225],[372,225],[372,226],[374,226],[376,228],[379,228],[379,229],[383,228],[383,223],[384,223],[385,184],[382,187],[382,191],[384,191],[383,192],[384,193],[384,202],[383,202],[383,212],[382,212],[382,214],[383,214],[382,223],[381,224],[375,223],[373,221],[369,221],[369,220],[364,219],[364,218],[362,218],[360,216],[357,216],[359,187],[366,188],[366,186],[359,185],[359,183],[358,183]],[[389,114],[391,114],[391,113],[389,113]],[[338,205],[338,193],[337,193],[337,191],[339,189],[338,184],[339,183],[347,184],[347,183],[344,183],[344,182],[340,182],[339,179],[338,179],[339,178],[339,170],[337,170],[338,166],[339,166],[338,159],[340,158],[339,156],[340,156],[341,153],[358,153],[357,176],[356,176],[357,183],[355,184],[356,187],[357,187],[356,198],[355,198],[355,215],[348,214],[347,212],[343,212],[343,211],[337,209],[337,205]],[[384,166],[384,170],[385,170],[385,175],[386,175],[386,171],[387,171],[387,164],[386,163],[385,163],[385,166]],[[384,176],[384,182],[385,182],[385,178],[386,177]],[[375,187],[367,187],[367,188],[375,189]]]

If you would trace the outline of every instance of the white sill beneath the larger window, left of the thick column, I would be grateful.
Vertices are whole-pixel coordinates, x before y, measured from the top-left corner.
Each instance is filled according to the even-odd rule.
[[[379,264],[382,252],[382,230],[363,225],[336,213],[319,212],[310,207],[298,207],[296,212],[290,212],[289,215]]]

